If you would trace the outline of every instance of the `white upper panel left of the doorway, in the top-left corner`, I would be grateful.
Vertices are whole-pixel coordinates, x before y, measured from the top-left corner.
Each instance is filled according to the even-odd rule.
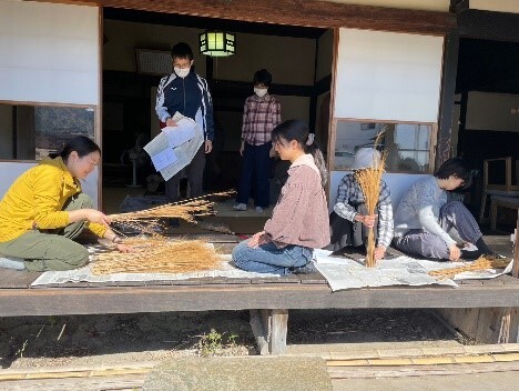
[[[0,100],[98,104],[99,9],[0,1]]]

